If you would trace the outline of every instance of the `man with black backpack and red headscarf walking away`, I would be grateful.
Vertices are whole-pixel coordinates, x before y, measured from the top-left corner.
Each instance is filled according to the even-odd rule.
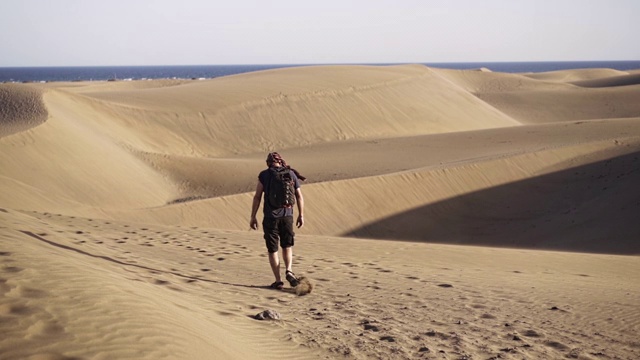
[[[251,208],[251,221],[250,226],[252,229],[258,229],[258,220],[256,215],[260,208],[260,202],[262,200],[262,194],[264,193],[264,219],[262,221],[262,228],[264,231],[264,240],[267,245],[267,251],[269,253],[269,264],[271,270],[276,278],[276,281],[271,284],[271,288],[282,290],[284,283],[280,277],[280,257],[278,255],[278,243],[282,248],[282,258],[285,265],[285,277],[291,287],[296,287],[299,283],[298,278],[293,273],[291,267],[293,265],[293,244],[294,236],[293,232],[293,205],[282,205],[274,207],[272,201],[269,200],[272,182],[278,170],[288,172],[291,176],[293,183],[293,189],[295,193],[295,204],[298,208],[298,219],[296,225],[301,228],[304,225],[304,199],[302,197],[302,191],[300,190],[300,181],[304,181],[305,177],[300,175],[295,169],[292,169],[287,165],[282,156],[277,152],[272,152],[267,155],[267,169],[260,172],[258,175],[258,185],[256,186],[256,193],[253,196],[253,206]],[[286,170],[285,170],[286,169]],[[287,171],[288,170],[288,171]]]

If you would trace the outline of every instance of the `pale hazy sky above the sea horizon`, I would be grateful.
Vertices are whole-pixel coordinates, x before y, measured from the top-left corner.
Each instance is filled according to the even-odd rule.
[[[640,60],[640,0],[0,0],[0,66]]]

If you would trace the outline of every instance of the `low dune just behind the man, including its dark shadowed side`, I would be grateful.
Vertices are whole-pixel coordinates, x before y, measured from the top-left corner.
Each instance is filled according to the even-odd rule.
[[[306,213],[317,220],[308,224],[304,233],[640,254],[636,241],[640,227],[632,221],[640,211],[637,172],[633,170],[638,166],[640,144],[637,140],[618,141],[622,146],[615,149],[611,149],[615,143],[611,140],[309,184],[305,194],[313,201]],[[610,166],[614,156],[622,157],[622,164]],[[598,161],[602,165],[592,165]],[[566,175],[555,174],[560,168]],[[549,178],[558,176],[549,183]],[[446,211],[439,209],[440,202],[447,204],[467,194],[491,193],[504,187],[514,189],[489,199],[478,195],[473,204],[463,201],[453,209],[448,205],[443,205]],[[611,203],[612,199],[618,199],[617,203]],[[250,200],[251,194],[245,193],[112,216],[243,230],[247,228],[243,205]],[[425,203],[434,205],[425,206],[428,211],[414,210]],[[219,208],[224,208],[224,213],[211,216]],[[477,217],[482,211],[490,211],[491,216]],[[582,212],[589,215],[576,216]],[[578,224],[582,224],[579,231]],[[359,227],[369,230],[357,230]],[[588,230],[592,227],[596,231]],[[575,244],[568,246],[561,241],[567,232],[583,234],[569,237]],[[618,240],[610,242],[612,237]]]

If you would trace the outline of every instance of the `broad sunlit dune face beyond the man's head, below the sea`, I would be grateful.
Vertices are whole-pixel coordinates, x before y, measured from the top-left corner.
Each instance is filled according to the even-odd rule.
[[[189,156],[517,125],[436,72],[411,66],[294,68],[82,95],[135,132],[131,146],[164,153],[168,145]]]

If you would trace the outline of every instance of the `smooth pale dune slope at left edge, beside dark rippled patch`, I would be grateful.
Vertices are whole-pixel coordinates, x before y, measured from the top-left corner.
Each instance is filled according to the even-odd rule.
[[[59,97],[60,103],[50,100]],[[3,205],[82,212],[164,203],[173,184],[92,126],[72,99],[47,93],[45,100],[50,118],[44,124],[0,139]]]

